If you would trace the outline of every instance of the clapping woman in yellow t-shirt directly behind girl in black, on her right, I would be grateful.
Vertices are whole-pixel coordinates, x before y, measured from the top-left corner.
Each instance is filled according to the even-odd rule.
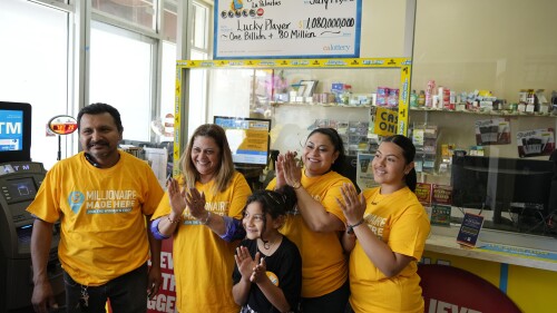
[[[276,177],[267,189],[285,185],[294,188],[296,208],[289,212],[281,233],[293,241],[302,254],[302,300],[304,313],[343,312],[349,294],[348,262],[339,239],[346,221],[336,204],[343,185],[353,186],[339,174],[344,145],[332,128],[316,128],[307,136],[301,159],[295,153],[278,155]]]

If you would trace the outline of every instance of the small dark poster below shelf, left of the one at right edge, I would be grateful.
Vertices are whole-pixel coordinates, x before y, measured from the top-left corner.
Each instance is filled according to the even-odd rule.
[[[478,146],[509,145],[509,119],[494,118],[476,121],[476,143]]]

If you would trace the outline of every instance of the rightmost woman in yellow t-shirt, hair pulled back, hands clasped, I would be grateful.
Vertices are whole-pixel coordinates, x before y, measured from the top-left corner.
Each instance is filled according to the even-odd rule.
[[[409,138],[388,137],[372,162],[380,186],[360,195],[352,185],[341,187],[342,242],[351,253],[349,312],[423,312],[417,270],[430,224],[413,193],[414,155]]]

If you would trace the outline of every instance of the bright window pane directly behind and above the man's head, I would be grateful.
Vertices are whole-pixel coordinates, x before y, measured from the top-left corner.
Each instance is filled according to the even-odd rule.
[[[91,22],[89,101],[120,111],[124,138],[149,141],[155,40]]]

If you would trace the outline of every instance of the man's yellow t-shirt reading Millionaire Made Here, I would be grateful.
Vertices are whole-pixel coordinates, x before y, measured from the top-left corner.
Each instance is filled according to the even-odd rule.
[[[79,284],[101,285],[145,264],[149,243],[145,215],[163,197],[148,164],[120,151],[110,168],[96,168],[79,153],[58,162],[27,211],[60,219],[58,256]]]

